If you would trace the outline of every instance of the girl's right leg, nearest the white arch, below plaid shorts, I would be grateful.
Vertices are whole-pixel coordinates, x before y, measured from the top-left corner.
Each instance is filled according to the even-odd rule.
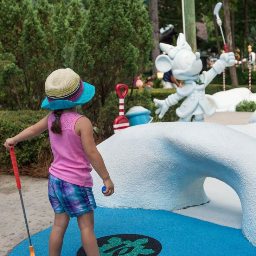
[[[81,240],[87,256],[100,256],[97,240],[94,234],[93,211],[77,217],[78,227],[81,231]]]

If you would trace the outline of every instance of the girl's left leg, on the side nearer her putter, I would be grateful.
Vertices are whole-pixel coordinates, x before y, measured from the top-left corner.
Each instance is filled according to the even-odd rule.
[[[54,224],[49,240],[49,256],[60,256],[63,237],[69,225],[70,217],[66,212],[55,213]]]

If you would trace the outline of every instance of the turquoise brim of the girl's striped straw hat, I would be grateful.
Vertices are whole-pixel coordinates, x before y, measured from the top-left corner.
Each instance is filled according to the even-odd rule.
[[[73,108],[90,101],[95,94],[95,87],[91,84],[88,84],[85,82],[83,83],[84,83],[84,90],[81,96],[75,101],[57,100],[57,101],[49,102],[46,97],[41,104],[41,108],[49,109],[49,110],[66,109],[66,108]]]

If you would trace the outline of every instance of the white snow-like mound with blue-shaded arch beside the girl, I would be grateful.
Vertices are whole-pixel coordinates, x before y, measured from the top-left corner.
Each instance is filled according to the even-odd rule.
[[[97,146],[115,193],[104,197],[92,171],[99,206],[175,210],[209,201],[203,184],[230,185],[243,210],[242,231],[256,245],[256,140],[214,123],[168,122],[124,129]]]

